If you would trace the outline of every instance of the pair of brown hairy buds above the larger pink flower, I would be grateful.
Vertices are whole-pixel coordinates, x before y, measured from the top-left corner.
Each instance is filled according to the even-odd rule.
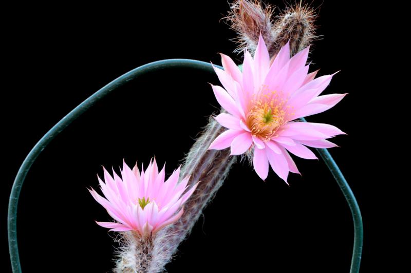
[[[286,8],[273,18],[274,7],[258,0],[237,0],[231,5],[226,17],[231,28],[238,33],[239,46],[235,52],[247,48],[253,55],[259,34],[264,38],[271,57],[290,40],[291,54],[310,45],[315,36],[314,9],[308,5],[296,4]],[[274,19],[274,20],[273,20]]]

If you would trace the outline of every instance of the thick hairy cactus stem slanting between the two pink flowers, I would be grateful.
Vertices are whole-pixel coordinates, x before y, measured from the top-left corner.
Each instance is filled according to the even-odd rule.
[[[186,156],[180,176],[191,175],[190,184],[197,181],[200,183],[190,199],[186,201],[181,218],[175,224],[158,232],[161,239],[156,239],[156,244],[162,246],[158,249],[162,255],[160,257],[153,255],[155,263],[165,265],[170,261],[178,245],[190,234],[203,208],[220,188],[230,167],[236,161],[235,156],[230,156],[229,149],[208,150],[211,142],[223,131],[225,129],[214,118],[210,118],[207,127]]]

